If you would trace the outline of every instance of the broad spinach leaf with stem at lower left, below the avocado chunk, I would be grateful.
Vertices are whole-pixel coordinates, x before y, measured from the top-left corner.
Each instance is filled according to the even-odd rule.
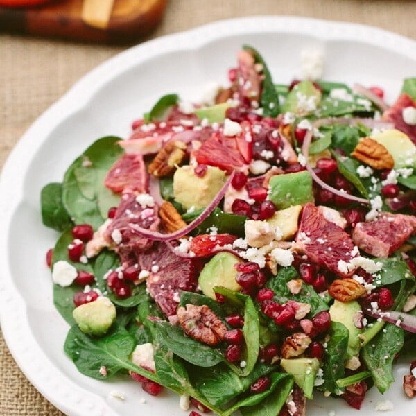
[[[124,328],[114,327],[102,338],[92,338],[74,325],[64,343],[64,351],[72,359],[78,371],[94,379],[108,379],[114,374],[131,370],[150,380],[158,381],[156,374],[138,367],[129,356],[136,347],[135,338]],[[107,376],[99,372],[104,366]]]

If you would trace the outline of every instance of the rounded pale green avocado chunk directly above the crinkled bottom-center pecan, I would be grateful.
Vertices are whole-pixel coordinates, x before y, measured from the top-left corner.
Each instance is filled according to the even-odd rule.
[[[200,272],[198,284],[205,296],[216,299],[214,287],[223,286],[230,291],[239,291],[241,286],[236,282],[237,270],[234,268],[241,260],[228,252],[212,257]]]

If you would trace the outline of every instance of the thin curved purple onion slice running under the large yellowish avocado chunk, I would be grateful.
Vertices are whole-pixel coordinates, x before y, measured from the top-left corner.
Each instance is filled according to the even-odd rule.
[[[193,220],[191,223],[182,229],[178,229],[175,232],[171,232],[169,234],[162,234],[161,232],[150,231],[147,228],[139,227],[137,224],[129,224],[129,227],[137,234],[146,237],[149,240],[157,240],[157,241],[169,241],[174,239],[179,239],[180,237],[189,234],[194,228],[198,227],[200,223],[211,214],[212,211],[216,208],[216,206],[220,203],[220,200],[223,199],[225,195],[225,191],[227,191],[229,184],[231,184],[232,178],[234,177],[234,172],[229,175],[227,182],[223,185],[223,187],[218,191],[215,198],[209,203],[209,205],[202,211],[200,216]]]

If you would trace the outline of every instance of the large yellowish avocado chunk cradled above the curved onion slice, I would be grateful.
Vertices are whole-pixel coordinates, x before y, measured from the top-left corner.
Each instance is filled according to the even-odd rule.
[[[214,199],[225,180],[225,172],[213,166],[208,166],[202,177],[194,173],[193,166],[182,166],[173,175],[173,194],[176,202],[185,209],[204,208]]]

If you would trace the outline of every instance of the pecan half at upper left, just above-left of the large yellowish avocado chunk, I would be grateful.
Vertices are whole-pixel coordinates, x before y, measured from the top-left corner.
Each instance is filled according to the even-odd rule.
[[[156,177],[169,175],[175,170],[175,165],[180,164],[184,159],[186,149],[187,145],[182,141],[168,141],[149,164],[148,172]]]

